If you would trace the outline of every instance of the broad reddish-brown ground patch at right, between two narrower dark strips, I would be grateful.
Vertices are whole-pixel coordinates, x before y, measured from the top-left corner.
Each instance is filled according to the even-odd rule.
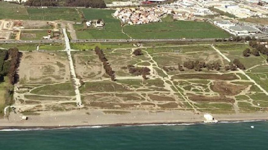
[[[242,90],[247,88],[247,85],[234,85],[227,82],[217,81],[213,85],[210,85],[212,91],[219,93],[220,95],[237,95]]]

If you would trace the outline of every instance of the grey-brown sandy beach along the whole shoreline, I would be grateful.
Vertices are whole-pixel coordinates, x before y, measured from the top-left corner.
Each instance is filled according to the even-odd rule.
[[[145,111],[132,110],[125,115],[104,114],[100,110],[73,110],[69,112],[43,112],[41,115],[28,116],[21,120],[22,114],[10,114],[9,118],[0,119],[3,128],[62,128],[97,125],[141,125],[141,124],[174,124],[201,123],[203,113],[191,111]],[[213,114],[218,121],[268,120],[268,113]]]

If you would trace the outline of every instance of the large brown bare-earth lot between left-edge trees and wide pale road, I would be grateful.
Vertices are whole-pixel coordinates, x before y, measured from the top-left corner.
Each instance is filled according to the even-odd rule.
[[[18,68],[20,83],[66,82],[68,63],[67,57],[57,53],[24,52]]]

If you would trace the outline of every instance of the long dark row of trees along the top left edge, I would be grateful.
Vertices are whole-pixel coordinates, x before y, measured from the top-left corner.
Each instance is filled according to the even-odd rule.
[[[106,8],[103,0],[28,0],[24,5]]]

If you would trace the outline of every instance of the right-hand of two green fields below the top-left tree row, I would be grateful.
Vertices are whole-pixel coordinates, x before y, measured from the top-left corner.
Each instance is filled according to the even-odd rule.
[[[28,8],[27,12],[30,20],[80,20],[75,8]]]

